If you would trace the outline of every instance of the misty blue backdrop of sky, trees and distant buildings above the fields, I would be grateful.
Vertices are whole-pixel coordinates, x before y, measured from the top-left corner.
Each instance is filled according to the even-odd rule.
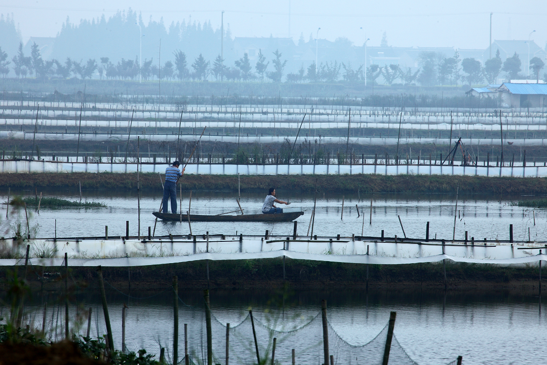
[[[547,79],[544,2],[129,5],[0,4],[0,74],[395,86]]]

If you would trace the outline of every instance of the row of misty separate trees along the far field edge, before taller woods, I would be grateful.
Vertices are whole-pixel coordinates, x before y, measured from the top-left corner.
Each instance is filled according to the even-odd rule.
[[[352,67],[351,62],[337,61],[321,62],[316,65],[300,67],[298,72],[285,73],[287,60],[283,60],[282,53],[276,50],[272,53],[271,59],[259,50],[258,60],[252,65],[247,53],[236,60],[234,65],[226,65],[226,61],[220,55],[211,63],[202,54],[197,56],[189,64],[187,55],[176,50],[173,53],[174,60],[168,60],[163,65],[158,65],[152,59],[145,59],[141,63],[136,57],[135,60],[121,59],[117,63],[110,61],[108,57],[101,57],[99,62],[95,59],[87,61],[72,60],[67,57],[65,61],[56,59],[43,60],[39,47],[34,43],[31,47],[30,56],[26,56],[22,43],[13,58],[8,59],[7,53],[0,48],[0,74],[7,77],[10,69],[13,69],[17,78],[35,77],[39,79],[120,79],[120,80],[179,80],[179,81],[204,81],[204,80],[229,80],[232,82],[270,82],[280,83],[283,78],[287,83],[357,83],[366,79],[371,83],[378,83],[381,77],[384,84],[420,84],[424,86],[435,85],[458,85],[467,83],[477,85],[484,82],[495,83],[499,74],[507,73],[509,79],[526,78],[522,76],[522,62],[519,55],[515,54],[502,62],[499,50],[492,59],[481,62],[473,58],[461,60],[456,50],[452,57],[444,57],[443,54],[434,52],[422,52],[418,57],[420,67],[401,67],[391,65],[370,65],[364,71],[364,66]],[[271,65],[270,65],[271,62]],[[10,66],[11,65],[11,66]],[[544,68],[544,62],[539,57],[530,60],[529,69],[539,79],[539,73]],[[547,81],[547,73],[543,78]],[[399,83],[396,81],[399,80]]]

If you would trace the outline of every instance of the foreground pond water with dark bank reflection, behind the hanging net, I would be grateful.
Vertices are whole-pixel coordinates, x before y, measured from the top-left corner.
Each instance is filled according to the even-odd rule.
[[[82,308],[93,307],[91,334],[104,331],[104,322],[96,293],[80,292],[72,301]],[[132,292],[133,297],[148,297],[154,293]],[[26,306],[30,315],[26,321],[42,323],[43,300],[49,298],[48,328],[57,323],[62,333],[63,304],[59,311],[56,293],[36,296]],[[202,356],[203,310],[201,291],[179,291],[179,297],[188,306],[179,303],[181,323],[181,353],[183,354],[183,323],[188,323],[190,347],[195,356]],[[283,299],[284,297],[284,299]],[[328,318],[334,331],[351,345],[363,345],[372,340],[386,325],[389,311],[397,311],[395,336],[400,345],[420,365],[446,364],[462,355],[465,364],[539,364],[547,361],[544,349],[547,332],[547,310],[540,310],[538,298],[504,291],[476,292],[427,292],[414,291],[293,291],[284,293],[272,289],[264,290],[217,290],[211,291],[213,311],[213,347],[219,358],[224,358],[223,328],[220,323],[236,327],[253,308],[255,319],[269,323],[277,329],[301,327],[315,317],[321,308],[321,299],[327,299]],[[115,345],[121,347],[121,308],[127,309],[127,346],[130,350],[144,346],[149,352],[159,352],[159,346],[172,349],[172,293],[164,292],[148,299],[127,298],[118,291],[108,293],[110,317],[112,318]],[[5,308],[3,309],[5,310]],[[71,317],[75,315],[71,307]],[[53,315],[52,315],[53,314]],[[98,314],[98,316],[96,316]],[[56,316],[59,317],[56,319]],[[320,317],[319,317],[320,318]],[[218,321],[218,322],[217,322]],[[320,322],[320,321],[319,321]],[[243,325],[242,325],[243,326]],[[86,325],[84,325],[84,329]],[[242,327],[231,334],[237,340]],[[82,331],[84,331],[84,329]],[[319,329],[319,331],[318,331]],[[300,330],[308,335],[307,341],[315,344],[312,352],[321,353],[320,326],[309,325]],[[247,331],[247,330],[246,330]],[[250,330],[249,330],[250,331]],[[248,331],[247,331],[248,332]],[[298,332],[298,331],[297,331]],[[84,333],[84,332],[82,332]],[[252,339],[251,333],[247,340]],[[59,335],[60,337],[61,335]],[[259,342],[267,342],[267,336],[259,332]],[[277,356],[282,363],[290,361],[290,347],[296,354],[307,351],[298,345],[297,339],[278,343]],[[310,345],[311,346],[311,345]],[[336,341],[331,343],[333,352],[343,350]],[[169,350],[168,350],[169,351]],[[246,351],[246,350],[245,350]],[[242,350],[242,354],[246,352]],[[250,351],[250,350],[249,350]],[[351,348],[346,351],[352,351]],[[241,355],[243,357],[247,355]],[[232,355],[231,355],[232,356]],[[234,355],[237,356],[237,355]],[[248,357],[253,357],[249,352]],[[298,356],[297,356],[298,357]],[[288,359],[283,362],[284,359]],[[218,362],[221,362],[220,360]],[[315,363],[315,361],[311,361]],[[297,361],[298,363],[298,361]],[[359,362],[357,362],[359,363]]]

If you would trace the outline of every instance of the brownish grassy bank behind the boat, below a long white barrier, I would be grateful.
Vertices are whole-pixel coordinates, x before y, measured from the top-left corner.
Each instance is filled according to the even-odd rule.
[[[77,188],[83,189],[137,188],[136,173],[0,173],[0,188]],[[141,173],[141,188],[161,190],[158,174]],[[317,181],[319,192],[361,193],[455,193],[468,194],[545,194],[547,178],[427,176],[427,175],[278,175],[241,176],[242,192],[283,190],[313,192]],[[187,175],[181,179],[183,190],[237,190],[237,176]]]

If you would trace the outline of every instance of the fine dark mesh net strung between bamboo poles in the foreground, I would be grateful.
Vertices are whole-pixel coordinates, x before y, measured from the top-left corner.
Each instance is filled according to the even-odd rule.
[[[173,309],[171,291],[155,294],[150,297],[131,297],[130,310],[126,311],[125,350],[137,352],[146,349],[149,354],[156,355],[161,347],[165,347],[166,358],[173,361]],[[166,303],[152,305],[147,299],[161,296]],[[171,305],[165,305],[170,303]],[[102,337],[107,333],[102,306],[94,304],[90,322],[90,337]],[[109,317],[116,349],[122,347],[122,320],[119,303],[109,304]],[[70,333],[85,336],[88,328],[88,307],[69,309]],[[8,308],[2,308],[0,316],[6,316]],[[205,305],[202,308],[185,304],[179,298],[179,363],[184,363],[184,323],[188,324],[188,355],[191,364],[207,363],[207,331]],[[162,321],[159,321],[161,318]],[[43,307],[28,307],[25,310],[24,325],[41,328],[43,323]],[[275,363],[291,364],[292,350],[295,351],[296,364],[324,363],[323,327],[321,312],[315,316],[304,317],[299,314],[285,312],[259,312],[254,315],[254,327],[260,360],[271,363],[273,339],[276,338]],[[397,326],[395,326],[397,327]],[[368,343],[360,346],[352,345],[343,338],[343,334],[335,331],[328,323],[329,354],[333,355],[335,364],[367,364],[380,365],[385,350],[388,326]],[[395,328],[395,332],[396,328]],[[59,341],[65,338],[65,306],[62,301],[48,308],[45,318],[46,339]],[[226,323],[222,323],[214,314],[211,320],[213,363],[226,363]],[[363,335],[367,335],[363,333]],[[251,317],[247,315],[240,323],[233,323],[229,331],[229,363],[253,365],[257,364],[257,354],[253,337]],[[451,362],[450,364],[455,364]],[[418,365],[406,353],[403,346],[393,335],[389,364]]]

